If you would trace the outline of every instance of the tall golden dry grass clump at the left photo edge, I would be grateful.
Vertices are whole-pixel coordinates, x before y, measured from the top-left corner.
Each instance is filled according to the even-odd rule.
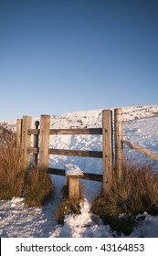
[[[7,124],[0,124],[0,199],[20,197],[25,182],[22,153]]]

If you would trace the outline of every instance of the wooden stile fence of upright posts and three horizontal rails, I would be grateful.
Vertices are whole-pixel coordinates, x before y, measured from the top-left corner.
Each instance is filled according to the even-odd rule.
[[[30,154],[33,154],[33,163],[38,169],[48,167],[49,155],[75,155],[82,157],[97,157],[102,158],[102,175],[84,173],[81,178],[102,181],[103,190],[106,191],[111,187],[113,175],[113,150],[115,151],[115,171],[118,177],[121,177],[123,165],[122,152],[122,110],[114,110],[114,136],[115,145],[113,146],[113,125],[112,111],[102,111],[102,128],[83,128],[83,129],[50,129],[50,116],[40,116],[39,122],[35,123],[35,129],[31,128],[32,119],[30,116],[24,116],[23,119],[18,119],[16,122],[16,137],[17,144],[21,146],[24,158],[25,168],[30,165]],[[64,134],[100,134],[102,135],[102,151],[88,150],[66,150],[49,148],[49,135]],[[34,135],[33,146],[31,147],[31,135]],[[65,176],[64,169],[48,168],[50,174]]]

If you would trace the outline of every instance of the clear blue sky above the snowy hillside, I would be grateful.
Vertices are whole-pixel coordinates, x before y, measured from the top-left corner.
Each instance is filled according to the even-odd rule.
[[[158,1],[0,0],[0,120],[158,101]]]

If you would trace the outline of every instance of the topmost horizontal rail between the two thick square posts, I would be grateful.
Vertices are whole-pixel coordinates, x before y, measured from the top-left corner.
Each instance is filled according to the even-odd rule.
[[[72,134],[101,134],[101,128],[79,128],[79,129],[50,129],[49,134],[72,135]]]

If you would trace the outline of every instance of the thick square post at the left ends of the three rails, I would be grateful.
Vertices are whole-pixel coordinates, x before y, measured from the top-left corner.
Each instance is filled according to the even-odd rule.
[[[39,163],[40,170],[48,167],[48,147],[49,147],[50,116],[40,117],[40,140],[39,140]]]

